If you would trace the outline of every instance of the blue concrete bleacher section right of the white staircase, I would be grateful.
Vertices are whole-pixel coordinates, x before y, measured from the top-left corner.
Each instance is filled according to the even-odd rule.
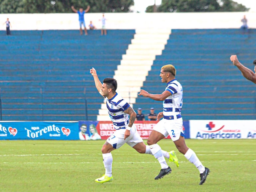
[[[183,85],[184,120],[235,120],[256,118],[256,87],[245,79],[229,60],[239,60],[253,70],[256,58],[256,29],[243,33],[239,29],[172,30],[163,54],[156,57],[142,89],[162,93],[166,84],[159,77],[161,67],[173,64],[177,80]],[[149,113],[163,110],[162,101],[139,96],[136,110]]]

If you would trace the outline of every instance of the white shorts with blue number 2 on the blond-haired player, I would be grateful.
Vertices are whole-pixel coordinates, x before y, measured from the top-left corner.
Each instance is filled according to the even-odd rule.
[[[170,135],[173,141],[177,141],[180,139],[180,136],[185,136],[183,133],[183,120],[179,119],[162,119],[159,121],[153,130],[163,134],[165,137]]]

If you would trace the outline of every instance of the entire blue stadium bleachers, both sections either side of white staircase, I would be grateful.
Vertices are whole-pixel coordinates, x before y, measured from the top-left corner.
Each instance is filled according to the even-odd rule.
[[[135,30],[107,36],[77,30],[12,31],[0,36],[0,96],[4,121],[96,120],[103,98],[89,69],[101,80],[114,76]],[[173,64],[184,89],[184,120],[255,119],[255,85],[232,65],[230,55],[253,68],[256,30],[172,30],[142,89],[161,93],[161,66]],[[120,87],[119,87],[120,89]],[[134,109],[162,111],[162,102],[139,96]]]

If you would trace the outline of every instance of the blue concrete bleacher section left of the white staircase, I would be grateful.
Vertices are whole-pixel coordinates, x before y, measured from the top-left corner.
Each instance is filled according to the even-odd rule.
[[[102,81],[113,77],[135,30],[12,31],[0,33],[2,120],[96,120],[103,97],[91,67]]]

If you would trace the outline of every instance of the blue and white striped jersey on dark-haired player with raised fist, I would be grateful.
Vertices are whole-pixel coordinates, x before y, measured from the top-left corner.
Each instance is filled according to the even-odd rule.
[[[106,98],[106,104],[114,128],[116,130],[125,129],[129,124],[129,115],[124,113],[124,111],[128,109],[130,105],[117,93],[110,100]]]

